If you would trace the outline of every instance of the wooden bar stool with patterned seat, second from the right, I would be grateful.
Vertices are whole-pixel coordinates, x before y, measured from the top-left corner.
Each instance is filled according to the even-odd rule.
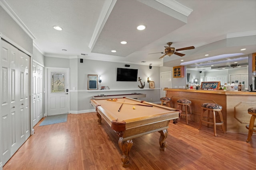
[[[226,133],[225,130],[224,130],[223,116],[222,116],[222,113],[221,113],[222,106],[220,106],[218,104],[215,104],[215,103],[204,103],[204,104],[201,105],[201,108],[202,108],[202,113],[201,113],[201,120],[200,120],[199,129],[201,129],[202,122],[204,122],[204,123],[207,123],[207,127],[209,127],[209,124],[213,125],[214,136],[215,137],[217,136],[216,125],[220,125],[221,128],[222,128],[223,133]],[[204,112],[206,110],[208,111],[208,116],[204,117]],[[210,111],[212,113],[212,118],[210,117]],[[218,123],[216,123],[215,111],[217,111],[219,113],[219,116],[220,116],[220,122],[218,122]],[[204,118],[207,118],[207,120],[204,120]],[[213,122],[210,121],[210,119],[213,119]]]

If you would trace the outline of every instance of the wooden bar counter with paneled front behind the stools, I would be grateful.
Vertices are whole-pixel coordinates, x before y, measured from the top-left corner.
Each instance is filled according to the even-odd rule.
[[[188,99],[192,102],[192,120],[198,123],[198,127],[202,111],[201,104],[216,103],[222,106],[226,131],[248,133],[245,126],[250,123],[251,115],[248,114],[247,110],[250,107],[256,107],[256,92],[172,88],[165,88],[164,90],[166,90],[166,97],[172,98],[172,107],[174,108],[177,108],[178,99]],[[217,128],[221,129],[220,126]]]

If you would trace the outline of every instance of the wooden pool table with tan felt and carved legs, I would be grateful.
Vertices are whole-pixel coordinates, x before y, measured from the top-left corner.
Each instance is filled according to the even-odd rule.
[[[118,135],[123,167],[128,167],[133,138],[159,132],[160,150],[165,151],[169,122],[178,123],[180,115],[180,110],[131,98],[91,99],[90,103],[96,108],[98,124],[103,117]]]

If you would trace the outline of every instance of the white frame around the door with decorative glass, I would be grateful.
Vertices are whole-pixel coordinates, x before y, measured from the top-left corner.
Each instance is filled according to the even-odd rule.
[[[48,69],[59,69],[59,70],[66,70],[68,74],[68,80],[66,80],[69,84],[69,90],[70,90],[70,68],[63,68],[63,67],[44,67],[44,117],[47,116],[47,84],[49,82],[48,77],[47,77],[47,71]],[[67,77],[67,76],[66,76]],[[68,92],[68,113],[70,112],[70,93]]]

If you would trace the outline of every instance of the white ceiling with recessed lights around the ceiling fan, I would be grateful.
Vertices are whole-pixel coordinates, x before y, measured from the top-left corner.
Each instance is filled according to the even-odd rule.
[[[256,0],[0,0],[0,5],[47,57],[172,67],[205,54],[256,52]],[[136,30],[140,24],[144,31]],[[176,49],[196,48],[179,51],[184,57],[159,59],[168,42]]]

